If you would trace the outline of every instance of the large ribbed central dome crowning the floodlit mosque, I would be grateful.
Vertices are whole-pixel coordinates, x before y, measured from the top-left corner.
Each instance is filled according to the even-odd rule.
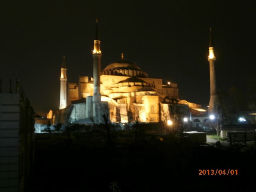
[[[102,75],[148,77],[148,74],[142,71],[135,63],[124,60],[106,66],[106,68],[104,68],[102,71]]]

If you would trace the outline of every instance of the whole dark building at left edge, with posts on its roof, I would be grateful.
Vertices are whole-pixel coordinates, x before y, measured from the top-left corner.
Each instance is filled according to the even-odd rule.
[[[0,89],[1,192],[29,191],[34,163],[34,122],[34,110],[24,98],[18,80],[15,93],[11,88],[9,93]]]

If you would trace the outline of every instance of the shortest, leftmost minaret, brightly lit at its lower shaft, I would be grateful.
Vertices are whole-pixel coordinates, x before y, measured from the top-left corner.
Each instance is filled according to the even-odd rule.
[[[64,109],[67,107],[67,68],[65,56],[63,56],[63,61],[60,70],[60,109]]]

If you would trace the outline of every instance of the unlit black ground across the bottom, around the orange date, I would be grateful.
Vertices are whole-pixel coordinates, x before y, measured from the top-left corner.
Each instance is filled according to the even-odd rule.
[[[32,191],[255,191],[256,151],[144,142],[132,146],[37,150]],[[238,175],[199,175],[199,170]],[[211,174],[212,172],[210,172]]]

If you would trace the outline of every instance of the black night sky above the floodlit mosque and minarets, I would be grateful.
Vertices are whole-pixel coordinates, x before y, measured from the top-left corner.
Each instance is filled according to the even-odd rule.
[[[98,18],[102,70],[123,52],[150,78],[177,82],[180,99],[207,105],[209,28],[218,88],[243,88],[256,70],[255,8],[254,0],[1,1],[0,78],[20,79],[36,112],[58,109],[63,55],[68,82],[92,76]]]

